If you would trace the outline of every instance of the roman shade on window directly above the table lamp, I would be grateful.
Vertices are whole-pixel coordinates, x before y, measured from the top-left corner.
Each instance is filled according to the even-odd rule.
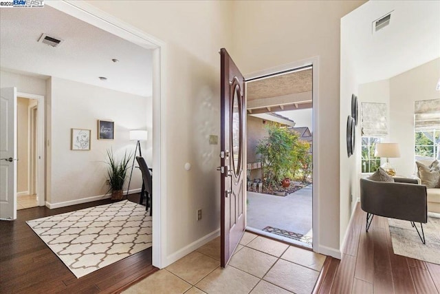
[[[386,103],[362,102],[362,136],[385,137],[388,135],[386,123]]]

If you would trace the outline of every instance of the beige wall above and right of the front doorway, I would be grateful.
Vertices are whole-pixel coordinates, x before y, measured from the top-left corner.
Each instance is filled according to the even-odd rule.
[[[234,1],[230,50],[243,74],[319,56],[320,252],[340,252],[340,18],[364,1]],[[345,116],[347,120],[347,116]],[[345,167],[341,167],[345,169]],[[341,204],[342,205],[342,204]],[[348,205],[347,205],[348,206]]]

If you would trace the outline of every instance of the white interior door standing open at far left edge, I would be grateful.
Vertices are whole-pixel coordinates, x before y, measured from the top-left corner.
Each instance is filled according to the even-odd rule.
[[[17,218],[17,89],[0,90],[0,219]]]

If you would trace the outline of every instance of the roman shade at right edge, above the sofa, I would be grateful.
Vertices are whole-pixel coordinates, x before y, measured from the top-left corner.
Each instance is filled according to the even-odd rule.
[[[414,128],[415,131],[440,129],[440,99],[415,101]]]

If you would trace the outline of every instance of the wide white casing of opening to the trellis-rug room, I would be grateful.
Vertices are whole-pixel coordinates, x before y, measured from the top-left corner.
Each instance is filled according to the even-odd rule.
[[[153,266],[166,264],[166,43],[83,1],[47,1],[72,17],[153,51]],[[49,138],[48,138],[49,139]]]

